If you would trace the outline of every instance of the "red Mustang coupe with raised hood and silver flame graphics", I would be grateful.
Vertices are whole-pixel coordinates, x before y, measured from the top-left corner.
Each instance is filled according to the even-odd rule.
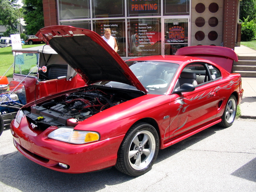
[[[37,36],[87,84],[28,103],[12,121],[15,147],[37,164],[68,173],[115,166],[139,176],[159,149],[235,120],[241,76],[212,61],[150,56],[124,62],[93,31],[69,26],[46,27]]]

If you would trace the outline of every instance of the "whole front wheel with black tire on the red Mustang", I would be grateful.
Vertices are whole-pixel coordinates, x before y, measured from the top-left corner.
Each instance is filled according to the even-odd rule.
[[[148,123],[135,124],[124,137],[115,167],[127,175],[143,175],[151,169],[158,151],[159,137],[156,129]]]

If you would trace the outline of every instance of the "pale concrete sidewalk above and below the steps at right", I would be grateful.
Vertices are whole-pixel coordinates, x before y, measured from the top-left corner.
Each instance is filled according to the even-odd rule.
[[[235,47],[237,56],[256,56],[256,51],[241,45]],[[241,102],[241,118],[256,119],[256,78],[242,77],[242,88],[244,89],[243,100]]]

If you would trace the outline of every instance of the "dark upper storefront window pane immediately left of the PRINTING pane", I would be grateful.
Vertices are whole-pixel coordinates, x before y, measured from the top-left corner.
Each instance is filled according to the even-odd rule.
[[[124,0],[92,0],[93,18],[124,17]]]

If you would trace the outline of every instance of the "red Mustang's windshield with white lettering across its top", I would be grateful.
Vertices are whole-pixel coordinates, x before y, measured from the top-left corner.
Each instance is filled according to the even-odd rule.
[[[178,64],[159,61],[126,61],[126,64],[139,79],[140,83],[151,94],[164,94],[179,68]],[[100,82],[111,87],[136,89],[133,86],[118,82]]]

